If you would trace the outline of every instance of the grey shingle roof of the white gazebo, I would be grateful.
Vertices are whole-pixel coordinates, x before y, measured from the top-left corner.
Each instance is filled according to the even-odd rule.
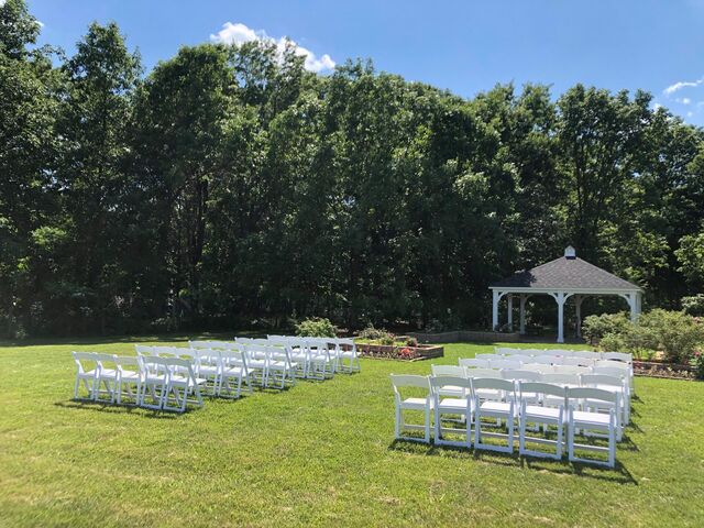
[[[492,288],[559,288],[559,289],[640,289],[601,267],[578,257],[561,256],[554,261],[517,272],[491,285]]]

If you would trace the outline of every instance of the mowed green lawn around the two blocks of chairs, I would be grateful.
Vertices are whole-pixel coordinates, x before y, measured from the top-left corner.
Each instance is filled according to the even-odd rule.
[[[207,400],[185,415],[72,402],[72,350],[0,348],[0,526],[702,526],[704,384],[637,378],[618,468],[394,442],[389,373]],[[490,351],[449,344],[437,363]]]

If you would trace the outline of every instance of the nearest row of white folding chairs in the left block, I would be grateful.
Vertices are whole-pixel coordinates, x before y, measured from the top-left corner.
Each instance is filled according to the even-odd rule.
[[[96,352],[74,352],[73,358],[77,371],[75,399],[106,400],[180,413],[186,410],[189,403],[202,407],[200,389],[207,380],[196,375],[188,360]],[[81,385],[88,393],[85,397],[80,396]]]

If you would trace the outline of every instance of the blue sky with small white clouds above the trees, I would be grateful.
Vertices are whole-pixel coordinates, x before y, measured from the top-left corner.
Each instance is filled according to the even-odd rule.
[[[642,88],[704,125],[704,0],[334,2],[29,0],[42,43],[69,53],[114,20],[148,69],[182,45],[289,36],[309,69],[371,57],[377,69],[465,97],[514,81]],[[228,24],[228,25],[226,25]]]

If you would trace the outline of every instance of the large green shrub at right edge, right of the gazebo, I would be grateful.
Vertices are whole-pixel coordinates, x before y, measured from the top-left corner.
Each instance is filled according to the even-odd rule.
[[[704,343],[704,326],[683,311],[657,308],[641,314],[638,326],[652,333],[654,345],[672,363],[688,363]]]

